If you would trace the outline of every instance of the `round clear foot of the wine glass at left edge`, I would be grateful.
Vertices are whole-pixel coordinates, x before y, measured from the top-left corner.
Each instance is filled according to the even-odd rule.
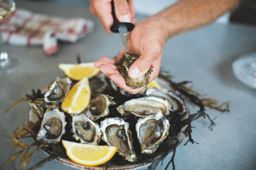
[[[8,57],[8,61],[0,62],[0,74],[4,73],[12,73],[18,69],[22,62],[21,58],[10,58]]]

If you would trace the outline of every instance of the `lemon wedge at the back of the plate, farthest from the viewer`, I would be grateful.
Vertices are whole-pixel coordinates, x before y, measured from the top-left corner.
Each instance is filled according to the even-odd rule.
[[[94,67],[94,63],[59,64],[59,69],[73,80],[81,80],[84,77],[90,78],[100,73],[100,70]]]

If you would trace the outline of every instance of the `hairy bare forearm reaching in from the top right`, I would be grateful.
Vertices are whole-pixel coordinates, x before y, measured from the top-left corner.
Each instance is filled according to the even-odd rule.
[[[155,16],[163,20],[166,39],[213,22],[241,0],[179,0]]]

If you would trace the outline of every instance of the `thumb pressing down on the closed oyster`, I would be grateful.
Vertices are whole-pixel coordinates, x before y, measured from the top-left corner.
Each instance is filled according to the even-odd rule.
[[[140,56],[129,68],[129,77],[135,79],[144,75],[150,69],[152,61],[150,57]]]

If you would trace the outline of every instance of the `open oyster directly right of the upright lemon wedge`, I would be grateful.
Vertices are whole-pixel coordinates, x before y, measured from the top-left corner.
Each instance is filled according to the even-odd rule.
[[[107,116],[109,114],[108,107],[115,104],[112,99],[113,97],[104,94],[98,94],[95,97],[92,97],[88,110],[85,111],[84,114],[92,120]]]

